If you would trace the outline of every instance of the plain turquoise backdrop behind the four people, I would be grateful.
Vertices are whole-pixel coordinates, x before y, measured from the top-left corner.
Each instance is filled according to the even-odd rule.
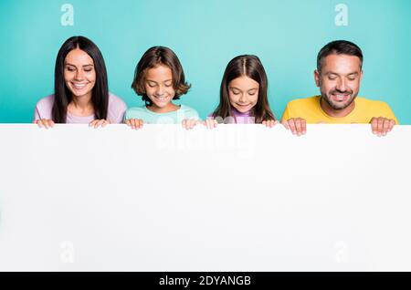
[[[74,6],[74,26],[61,26],[61,5]],[[349,25],[335,26],[335,5],[348,5]],[[69,37],[93,40],[105,58],[112,93],[129,107],[142,101],[132,77],[149,47],[171,47],[191,91],[181,103],[204,118],[216,108],[227,62],[260,57],[277,117],[288,101],[319,93],[318,51],[347,39],[364,51],[360,95],[388,102],[411,124],[411,1],[409,0],[2,0],[0,122],[30,122],[39,98],[53,93],[54,62]]]

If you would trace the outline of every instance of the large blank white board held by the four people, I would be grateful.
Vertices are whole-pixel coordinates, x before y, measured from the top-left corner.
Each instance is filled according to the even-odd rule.
[[[0,125],[1,271],[411,271],[411,127]]]

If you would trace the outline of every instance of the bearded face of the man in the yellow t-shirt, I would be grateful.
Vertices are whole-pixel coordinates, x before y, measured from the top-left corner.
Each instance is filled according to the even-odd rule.
[[[314,77],[321,89],[321,97],[333,110],[349,109],[363,78],[361,60],[359,57],[332,54],[322,60],[321,71],[315,70]]]

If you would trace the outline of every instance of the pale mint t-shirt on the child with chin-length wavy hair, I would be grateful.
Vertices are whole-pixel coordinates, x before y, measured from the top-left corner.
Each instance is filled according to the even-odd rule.
[[[127,109],[124,119],[142,119],[146,124],[179,124],[183,119],[200,119],[200,116],[195,109],[184,105],[168,113],[154,113],[142,106]]]

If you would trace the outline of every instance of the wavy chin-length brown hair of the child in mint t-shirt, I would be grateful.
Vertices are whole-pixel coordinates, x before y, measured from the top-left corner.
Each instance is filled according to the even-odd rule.
[[[145,92],[145,75],[148,69],[160,65],[169,67],[172,71],[173,88],[175,90],[173,99],[179,99],[191,88],[191,85],[185,82],[183,67],[174,51],[168,47],[151,47],[142,55],[137,67],[135,67],[132,81],[132,89],[137,95],[142,96],[146,106],[151,106],[153,103]]]

